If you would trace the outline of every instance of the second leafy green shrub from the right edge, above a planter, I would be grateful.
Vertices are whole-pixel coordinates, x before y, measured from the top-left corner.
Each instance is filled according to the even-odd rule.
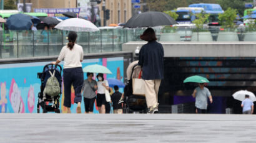
[[[219,14],[219,21],[221,25],[224,25],[225,27],[233,28],[236,17],[237,17],[237,10],[229,7],[223,14]]]

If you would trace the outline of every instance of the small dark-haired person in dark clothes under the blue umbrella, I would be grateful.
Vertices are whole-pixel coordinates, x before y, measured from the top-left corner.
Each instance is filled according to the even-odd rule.
[[[113,113],[114,114],[122,114],[122,104],[118,104],[119,99],[122,96],[122,93],[119,92],[118,86],[114,86],[115,93],[111,96],[111,101],[113,103]]]

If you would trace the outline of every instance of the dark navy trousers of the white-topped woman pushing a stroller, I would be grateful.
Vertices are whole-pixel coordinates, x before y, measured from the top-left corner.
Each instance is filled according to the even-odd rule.
[[[81,103],[82,96],[82,84],[84,82],[84,73],[81,67],[77,68],[64,68],[63,70],[63,80],[64,80],[64,106],[71,107],[71,85],[73,85],[75,90],[75,103]]]

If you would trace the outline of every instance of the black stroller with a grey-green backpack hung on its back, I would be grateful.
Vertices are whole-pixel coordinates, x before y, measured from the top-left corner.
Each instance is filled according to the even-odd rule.
[[[57,78],[57,81],[59,81],[59,86],[61,89],[61,81],[62,81],[61,70],[62,68],[60,65],[54,65],[50,63],[44,66],[42,73],[37,73],[37,78],[41,80],[41,86],[40,86],[41,90],[38,93],[37,113],[40,113],[40,106],[42,108],[43,113],[47,113],[47,112],[60,113],[59,98],[61,97],[61,90],[60,90],[60,93],[56,96],[49,96],[49,95],[44,96],[44,88],[46,86],[46,81],[48,80],[48,78],[51,77],[51,73],[55,73],[54,76]],[[51,71],[51,73],[49,71]]]

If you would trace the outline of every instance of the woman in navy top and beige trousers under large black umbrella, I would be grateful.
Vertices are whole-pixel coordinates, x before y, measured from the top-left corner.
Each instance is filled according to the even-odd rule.
[[[142,67],[142,79],[145,80],[145,99],[148,113],[158,113],[158,91],[164,78],[164,48],[156,42],[155,31],[146,29],[140,39],[148,43],[139,52],[139,65]]]

